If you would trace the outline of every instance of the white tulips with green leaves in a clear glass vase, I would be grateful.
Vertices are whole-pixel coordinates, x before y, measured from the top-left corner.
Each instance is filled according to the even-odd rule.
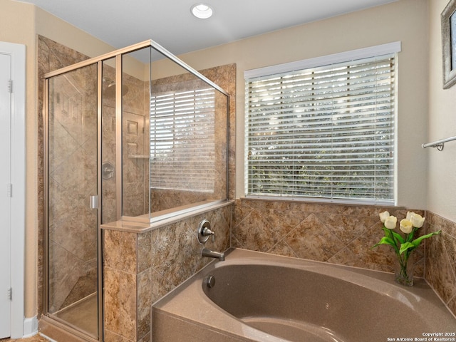
[[[377,247],[380,244],[389,244],[392,246],[399,262],[395,280],[405,286],[413,286],[413,274],[408,274],[408,259],[410,254],[424,239],[439,234],[440,230],[438,232],[425,234],[414,239],[415,233],[418,229],[423,227],[423,224],[425,223],[425,218],[421,217],[421,215],[415,214],[415,212],[407,212],[407,217],[400,221],[399,229],[405,234],[405,236],[394,232],[398,223],[397,217],[391,216],[389,212],[381,212],[379,216],[380,221],[383,222],[382,229],[385,232],[385,236],[382,237],[380,242],[375,244],[372,248]]]

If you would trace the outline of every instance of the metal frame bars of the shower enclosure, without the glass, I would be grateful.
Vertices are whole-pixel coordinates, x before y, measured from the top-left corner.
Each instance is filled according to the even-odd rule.
[[[122,96],[121,96],[121,91],[122,91],[122,56],[126,53],[132,53],[134,51],[138,51],[142,48],[153,48],[155,51],[162,53],[163,56],[166,58],[169,58],[171,61],[174,61],[177,63],[179,66],[184,68],[186,71],[194,74],[198,78],[200,78],[202,81],[206,82],[209,84],[209,86],[212,86],[213,88],[219,90],[220,93],[223,93],[224,95],[229,97],[229,94],[217,86],[214,82],[210,81],[209,78],[206,78],[205,76],[202,76],[202,74],[198,73],[194,68],[188,66],[186,63],[183,61],[180,61],[179,58],[176,56],[172,55],[169,51],[167,51],[165,48],[160,46],[160,44],[156,43],[155,41],[152,40],[147,40],[147,41],[142,41],[140,43],[136,43],[132,46],[128,46],[125,48],[118,49],[116,51],[110,52],[110,53],[105,53],[101,56],[95,57],[95,58],[89,58],[86,61],[81,61],[79,63],[75,63],[71,66],[67,66],[64,68],[60,68],[56,71],[51,71],[49,73],[46,73],[44,75],[44,99],[43,99],[43,132],[44,132],[44,195],[43,195],[43,208],[44,208],[44,214],[43,214],[43,316],[41,319],[47,321],[48,323],[55,324],[58,326],[58,328],[63,329],[64,331],[67,331],[68,333],[71,333],[75,336],[78,336],[78,338],[82,338],[86,341],[103,341],[103,232],[102,229],[100,228],[100,224],[102,222],[102,201],[103,199],[101,198],[101,185],[102,185],[102,177],[103,177],[103,169],[102,169],[102,134],[101,134],[101,127],[102,127],[102,92],[103,92],[103,61],[107,61],[111,58],[115,58],[115,140],[116,140],[116,160],[115,160],[115,175],[122,175]],[[152,61],[151,61],[152,63]],[[70,71],[75,71],[76,69],[83,68],[85,66],[90,66],[96,64],[97,66],[97,191],[98,191],[98,242],[97,242],[97,248],[98,248],[98,339],[95,339],[91,336],[88,336],[88,334],[85,331],[82,331],[80,328],[74,327],[74,326],[68,326],[65,321],[61,320],[60,318],[57,318],[53,316],[52,314],[49,314],[49,285],[48,285],[48,276],[49,276],[49,255],[48,255],[48,249],[49,249],[49,217],[48,217],[48,212],[49,212],[49,190],[48,190],[48,185],[49,185],[49,127],[48,127],[48,120],[49,120],[49,81],[50,78],[53,78],[54,76],[60,76],[63,75],[64,73],[68,73]],[[152,68],[152,66],[150,66]],[[229,113],[229,105],[227,103],[227,113]],[[229,123],[229,115],[227,115],[227,123]],[[227,126],[228,128],[229,126]],[[227,138],[228,138],[228,129],[227,129]],[[229,150],[229,143],[227,139],[227,151]],[[228,155],[228,154],[227,154]],[[227,165],[227,194],[228,194],[228,165]],[[122,178],[121,177],[116,177],[115,180],[115,191],[116,191],[116,217],[118,220],[122,219],[122,208],[123,208],[123,198],[122,198]]]

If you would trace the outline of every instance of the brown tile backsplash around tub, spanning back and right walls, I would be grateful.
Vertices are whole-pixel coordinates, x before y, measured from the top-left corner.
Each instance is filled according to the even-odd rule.
[[[456,223],[432,212],[237,199],[232,247],[393,272],[395,254],[390,247],[371,248],[383,237],[378,214],[385,210],[398,219],[408,210],[426,216],[420,234],[442,230],[415,250],[415,275],[424,276],[456,314]]]

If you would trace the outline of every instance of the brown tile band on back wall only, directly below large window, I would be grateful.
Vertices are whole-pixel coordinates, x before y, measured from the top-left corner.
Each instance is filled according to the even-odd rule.
[[[237,199],[232,247],[393,272],[395,254],[391,248],[383,245],[372,249],[383,237],[378,214],[385,210],[399,220],[408,211],[399,207]],[[422,210],[412,211],[424,216]],[[420,234],[424,232],[422,229]],[[424,245],[414,254],[415,275],[423,277]]]

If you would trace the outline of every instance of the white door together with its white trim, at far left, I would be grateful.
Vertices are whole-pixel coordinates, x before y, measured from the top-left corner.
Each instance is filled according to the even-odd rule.
[[[36,331],[24,331],[25,71],[26,46],[0,42],[0,338]]]

